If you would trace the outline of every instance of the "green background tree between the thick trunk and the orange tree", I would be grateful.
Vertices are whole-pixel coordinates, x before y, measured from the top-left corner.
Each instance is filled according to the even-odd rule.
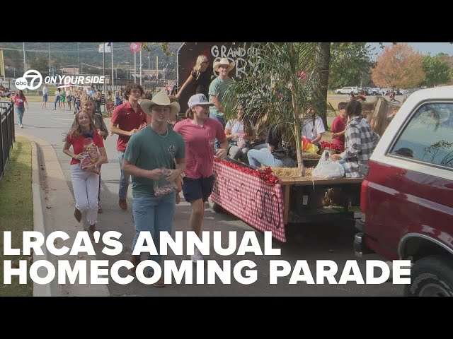
[[[335,90],[344,86],[369,85],[374,66],[372,52],[367,42],[333,42],[328,88]]]

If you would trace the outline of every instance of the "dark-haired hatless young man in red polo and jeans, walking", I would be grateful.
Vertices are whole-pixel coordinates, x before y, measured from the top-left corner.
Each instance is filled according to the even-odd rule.
[[[130,181],[130,175],[125,174],[121,169],[122,160],[125,157],[125,150],[130,137],[139,130],[140,125],[146,122],[147,119],[147,114],[144,114],[139,105],[139,99],[143,93],[142,86],[137,84],[128,85],[125,90],[127,102],[115,108],[110,121],[110,132],[118,135],[116,150],[121,172],[118,205],[120,205],[122,210],[127,210],[126,197]]]

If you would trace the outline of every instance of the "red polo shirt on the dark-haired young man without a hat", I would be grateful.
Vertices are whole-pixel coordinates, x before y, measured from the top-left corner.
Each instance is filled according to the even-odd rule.
[[[113,112],[112,123],[117,124],[119,129],[123,131],[132,131],[132,129],[139,129],[140,125],[147,121],[147,114],[143,112],[142,107],[138,105],[137,112],[134,111],[130,102],[119,105]],[[120,152],[125,152],[127,143],[130,136],[118,136],[116,149]]]

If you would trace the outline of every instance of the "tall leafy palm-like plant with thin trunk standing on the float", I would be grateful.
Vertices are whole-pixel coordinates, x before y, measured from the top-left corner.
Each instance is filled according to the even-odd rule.
[[[297,164],[304,175],[302,119],[311,106],[319,111],[315,93],[318,71],[314,64],[316,44],[294,42],[253,43],[249,50],[249,77],[232,83],[224,95],[226,119],[236,117],[238,102],[246,119],[268,114],[270,124],[282,124],[295,143]]]

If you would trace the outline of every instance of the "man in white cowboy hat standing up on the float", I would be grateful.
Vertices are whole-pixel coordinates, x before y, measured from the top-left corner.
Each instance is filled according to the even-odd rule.
[[[210,107],[210,118],[219,121],[223,127],[225,127],[224,120],[224,107],[222,106],[222,101],[226,89],[231,83],[234,83],[234,80],[228,76],[228,73],[234,69],[234,62],[229,62],[228,59],[222,58],[220,61],[214,62],[214,71],[219,72],[219,76],[215,78],[210,84],[210,102],[214,105]],[[215,148],[220,148],[219,141],[215,141]]]

